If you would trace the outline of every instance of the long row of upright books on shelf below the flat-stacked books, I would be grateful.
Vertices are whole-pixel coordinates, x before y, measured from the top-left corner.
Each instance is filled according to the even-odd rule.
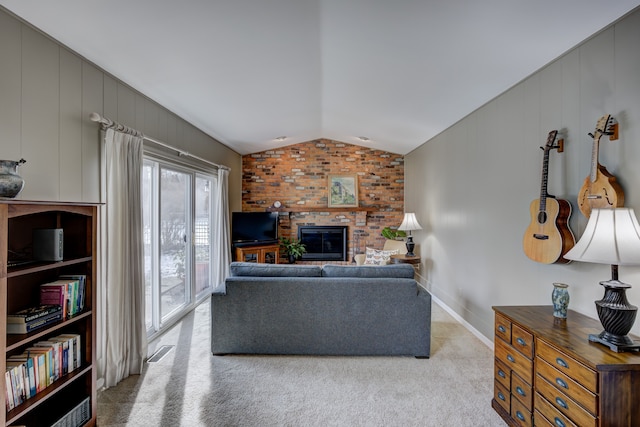
[[[81,345],[79,334],[63,334],[38,341],[23,353],[9,356],[5,371],[7,411],[79,368]]]

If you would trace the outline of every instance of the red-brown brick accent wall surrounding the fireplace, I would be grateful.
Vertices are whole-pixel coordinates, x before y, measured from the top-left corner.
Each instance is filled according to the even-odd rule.
[[[358,209],[323,210],[329,175],[357,175]],[[351,260],[365,246],[382,248],[380,231],[402,222],[404,157],[328,139],[243,156],[242,210],[265,211],[276,200],[280,236],[297,238],[299,225],[347,225]]]

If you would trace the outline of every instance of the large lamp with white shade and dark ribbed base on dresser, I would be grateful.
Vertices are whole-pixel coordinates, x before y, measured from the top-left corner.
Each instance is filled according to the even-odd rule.
[[[595,302],[604,331],[589,335],[589,341],[615,352],[640,350],[640,344],[627,336],[638,307],[627,300],[626,290],[631,285],[618,280],[619,265],[640,264],[640,225],[633,209],[593,209],[582,237],[565,258],[611,264],[611,280],[600,282],[604,296]]]

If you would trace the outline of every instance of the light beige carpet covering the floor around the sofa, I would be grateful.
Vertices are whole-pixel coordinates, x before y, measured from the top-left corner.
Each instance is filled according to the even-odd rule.
[[[212,356],[209,304],[140,376],[98,393],[106,426],[501,426],[493,353],[433,304],[432,355]]]

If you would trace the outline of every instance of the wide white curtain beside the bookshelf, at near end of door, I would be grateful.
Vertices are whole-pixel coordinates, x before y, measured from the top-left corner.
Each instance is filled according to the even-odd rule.
[[[105,387],[139,374],[147,355],[142,141],[113,129],[105,132]]]

